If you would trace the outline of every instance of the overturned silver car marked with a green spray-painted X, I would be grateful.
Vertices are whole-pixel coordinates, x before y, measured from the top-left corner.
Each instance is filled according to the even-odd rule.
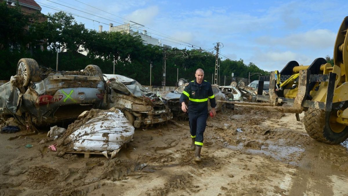
[[[95,65],[84,71],[54,71],[39,67],[34,59],[21,59],[17,75],[0,86],[0,115],[26,126],[74,120],[101,106],[105,86],[100,76]]]

